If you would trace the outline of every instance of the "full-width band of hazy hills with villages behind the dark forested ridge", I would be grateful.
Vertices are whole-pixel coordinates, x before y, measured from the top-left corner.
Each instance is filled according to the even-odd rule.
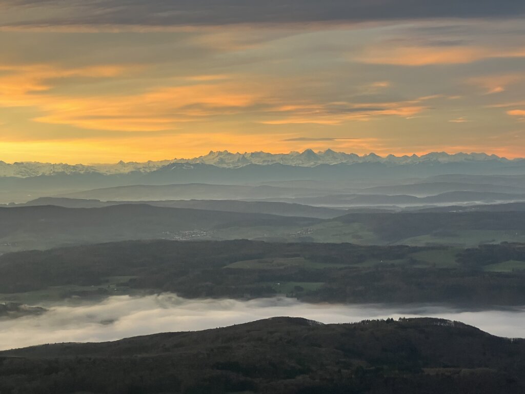
[[[73,204],[77,204],[76,200]],[[93,201],[88,204],[94,204]],[[98,204],[98,203],[97,203]],[[112,204],[112,203],[111,203]],[[202,203],[185,202],[192,208],[172,208],[172,202],[117,204],[101,208],[59,206],[15,206],[0,208],[0,253],[28,249],[124,240],[235,240],[278,242],[351,242],[362,245],[455,245],[524,242],[525,211],[384,212],[351,211],[348,214],[318,217],[252,213],[258,205],[244,205],[246,212],[225,202],[222,208],[193,209]],[[234,205],[234,208],[228,206]],[[237,205],[238,206],[238,205]],[[288,205],[286,205],[288,206]],[[279,206],[279,210],[286,208]],[[289,205],[289,214],[309,214],[317,209]],[[275,206],[265,205],[274,211]],[[239,208],[240,210],[240,208]],[[261,209],[262,210],[262,209]],[[306,211],[305,211],[306,210]],[[321,211],[323,214],[324,211]],[[321,216],[321,214],[316,214]]]

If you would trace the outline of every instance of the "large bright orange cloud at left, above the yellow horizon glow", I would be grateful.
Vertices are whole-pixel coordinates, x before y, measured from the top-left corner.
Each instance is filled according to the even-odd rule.
[[[0,107],[33,107],[32,120],[89,130],[162,131],[186,122],[228,116],[246,108],[266,92],[249,89],[226,76],[181,78],[176,86],[151,87],[133,94],[61,94],[57,85],[67,79],[116,79],[143,71],[139,66],[101,65],[64,68],[51,64],[0,64]]]

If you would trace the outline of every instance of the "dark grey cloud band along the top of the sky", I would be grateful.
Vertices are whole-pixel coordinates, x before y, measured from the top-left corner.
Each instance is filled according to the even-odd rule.
[[[4,0],[4,27],[206,26],[366,22],[421,18],[498,18],[525,13],[515,0]]]

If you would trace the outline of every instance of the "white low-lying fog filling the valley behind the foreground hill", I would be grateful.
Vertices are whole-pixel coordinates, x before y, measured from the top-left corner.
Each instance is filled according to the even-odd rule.
[[[201,330],[273,316],[298,316],[323,323],[429,316],[459,320],[498,336],[525,337],[524,308],[466,312],[439,306],[305,304],[285,297],[192,300],[160,294],[115,296],[95,305],[53,306],[39,316],[0,320],[0,349]]]

